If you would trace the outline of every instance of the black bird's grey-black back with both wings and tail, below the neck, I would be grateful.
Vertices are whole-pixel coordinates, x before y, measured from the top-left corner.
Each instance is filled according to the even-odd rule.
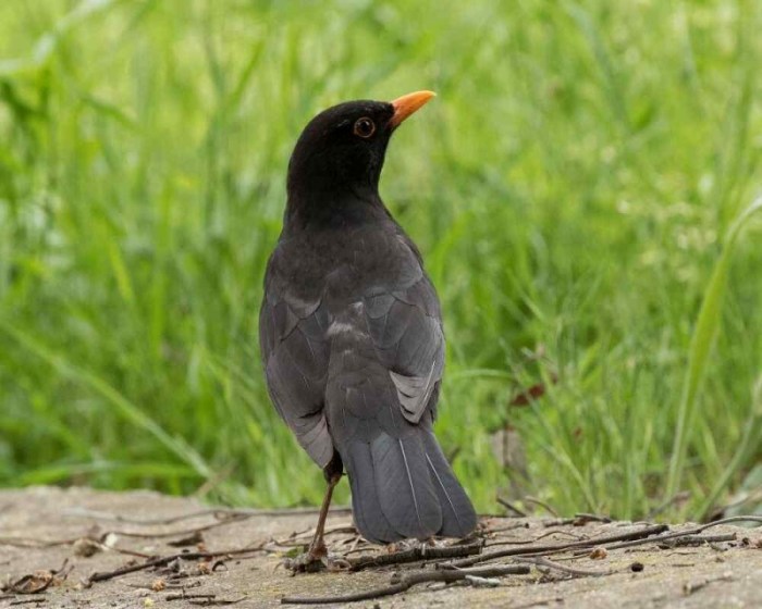
[[[367,538],[472,530],[431,428],[444,366],[439,300],[391,217],[284,233],[260,341],[273,402],[320,467],[341,456]]]

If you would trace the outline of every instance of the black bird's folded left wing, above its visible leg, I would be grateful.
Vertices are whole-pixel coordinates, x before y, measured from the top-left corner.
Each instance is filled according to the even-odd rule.
[[[283,254],[273,252],[259,314],[259,341],[270,398],[297,440],[321,468],[333,456],[323,413],[330,345],[328,307],[314,290],[297,294]]]

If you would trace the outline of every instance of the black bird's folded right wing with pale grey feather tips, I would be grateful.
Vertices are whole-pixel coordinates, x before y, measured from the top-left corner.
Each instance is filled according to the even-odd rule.
[[[433,409],[444,369],[444,335],[437,293],[408,241],[405,272],[364,298],[368,334],[396,389],[403,415],[418,423]],[[432,410],[432,415],[433,415]]]

